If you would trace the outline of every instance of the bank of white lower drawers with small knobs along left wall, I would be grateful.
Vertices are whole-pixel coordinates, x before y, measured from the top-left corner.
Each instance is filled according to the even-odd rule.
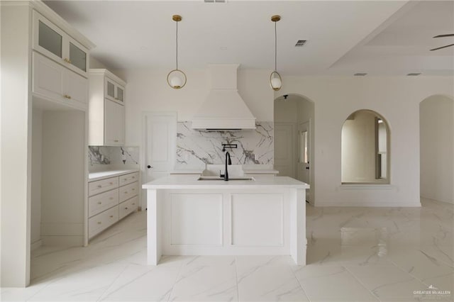
[[[138,172],[133,172],[89,182],[90,239],[138,209],[138,178]]]

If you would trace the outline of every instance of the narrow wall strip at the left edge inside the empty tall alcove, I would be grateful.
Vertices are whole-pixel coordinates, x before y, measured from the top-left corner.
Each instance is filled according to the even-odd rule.
[[[31,245],[40,245],[41,158],[43,154],[43,111],[33,108],[31,143]]]

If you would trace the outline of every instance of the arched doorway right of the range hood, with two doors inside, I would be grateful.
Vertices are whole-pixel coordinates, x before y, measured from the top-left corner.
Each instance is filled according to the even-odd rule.
[[[306,182],[306,201],[314,204],[314,102],[298,94],[275,99],[275,169],[279,176]]]

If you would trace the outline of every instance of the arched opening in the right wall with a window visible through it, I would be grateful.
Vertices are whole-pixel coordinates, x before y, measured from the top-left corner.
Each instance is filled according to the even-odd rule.
[[[389,125],[379,113],[358,110],[342,126],[343,184],[389,184]]]

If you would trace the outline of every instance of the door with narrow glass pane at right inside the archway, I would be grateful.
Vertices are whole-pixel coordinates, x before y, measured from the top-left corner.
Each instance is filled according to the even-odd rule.
[[[298,125],[297,178],[311,184],[311,123],[306,121]],[[306,190],[306,201],[311,201],[311,189]]]

